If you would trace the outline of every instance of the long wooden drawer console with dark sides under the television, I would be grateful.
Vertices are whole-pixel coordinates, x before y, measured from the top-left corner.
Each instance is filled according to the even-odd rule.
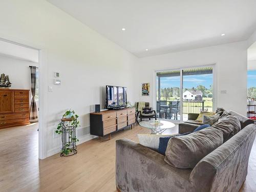
[[[91,135],[100,137],[109,135],[111,139],[111,133],[132,126],[134,123],[136,123],[135,108],[107,110],[90,114]]]

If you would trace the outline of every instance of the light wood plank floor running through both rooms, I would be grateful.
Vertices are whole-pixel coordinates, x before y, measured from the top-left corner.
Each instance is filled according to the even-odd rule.
[[[175,134],[177,127],[172,130]],[[0,130],[0,191],[116,191],[115,141],[138,141],[143,127],[120,131],[111,140],[93,139],[78,145],[78,154],[38,160],[37,123]],[[240,191],[256,191],[256,142],[247,179]]]

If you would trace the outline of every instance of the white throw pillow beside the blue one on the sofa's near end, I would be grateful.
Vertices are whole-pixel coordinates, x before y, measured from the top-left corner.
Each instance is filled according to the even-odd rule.
[[[154,134],[138,134],[139,144],[151,148],[154,151],[158,151],[159,138],[168,136],[177,136],[179,134],[172,135],[154,135]]]

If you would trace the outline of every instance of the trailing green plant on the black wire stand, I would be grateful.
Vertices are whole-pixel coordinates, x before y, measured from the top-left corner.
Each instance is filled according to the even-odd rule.
[[[78,126],[80,126],[80,122],[77,120],[79,116],[75,114],[74,110],[69,110],[66,111],[65,114],[62,116],[62,119],[70,119],[70,121],[65,121],[63,125],[65,125],[66,127],[74,127],[77,128]],[[56,134],[62,134],[63,130],[61,127],[61,123],[63,123],[63,121],[61,121],[58,125],[57,128],[55,130]],[[61,152],[65,155],[69,155],[69,153],[73,152],[73,148],[72,148],[72,142],[77,142],[79,141],[76,137],[72,138],[72,134],[73,131],[70,129],[68,131],[69,134],[69,139],[71,140],[70,142],[66,143],[65,147],[63,147],[61,149]]]

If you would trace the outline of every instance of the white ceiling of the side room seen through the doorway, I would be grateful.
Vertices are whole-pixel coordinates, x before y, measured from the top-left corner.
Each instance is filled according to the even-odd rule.
[[[0,40],[0,55],[38,62],[38,50]]]

